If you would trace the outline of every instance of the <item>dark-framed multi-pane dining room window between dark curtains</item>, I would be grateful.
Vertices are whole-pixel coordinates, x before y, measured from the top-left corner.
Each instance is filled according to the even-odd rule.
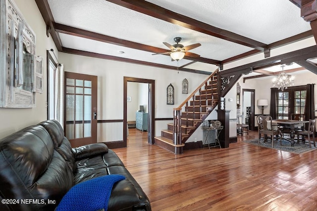
[[[306,86],[288,87],[277,92],[277,119],[291,119],[291,114],[304,114]]]

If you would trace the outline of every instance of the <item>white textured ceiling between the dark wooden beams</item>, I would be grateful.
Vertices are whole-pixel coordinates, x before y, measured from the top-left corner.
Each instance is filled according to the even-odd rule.
[[[177,24],[125,8],[106,0],[48,0],[55,23],[98,34],[168,48],[162,42],[174,44],[181,37],[183,45],[201,43],[189,50],[203,58],[225,60],[254,48],[212,37]],[[148,0],[160,7],[196,19],[211,26],[246,38],[270,44],[311,30],[300,16],[300,8],[289,0]],[[89,40],[58,33],[63,47],[96,52],[117,57],[147,61],[170,66],[192,62],[182,59],[177,64],[169,56]],[[124,53],[119,53],[123,51]],[[213,71],[216,66],[196,62],[187,68]]]

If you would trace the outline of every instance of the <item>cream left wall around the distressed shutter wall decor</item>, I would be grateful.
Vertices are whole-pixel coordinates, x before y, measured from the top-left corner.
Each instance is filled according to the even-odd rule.
[[[46,50],[54,49],[56,56],[58,51],[52,38],[46,36],[46,25],[34,0],[14,0],[24,16],[27,24],[36,34],[36,55],[44,57],[46,70]],[[44,71],[43,93],[36,93],[35,108],[0,108],[0,138],[18,131],[23,127],[36,125],[47,119],[47,74]]]

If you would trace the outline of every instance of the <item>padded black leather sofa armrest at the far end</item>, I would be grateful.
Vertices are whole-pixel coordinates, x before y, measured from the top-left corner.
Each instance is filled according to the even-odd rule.
[[[89,158],[108,152],[108,147],[103,143],[88,144],[80,147],[72,148],[76,160]]]

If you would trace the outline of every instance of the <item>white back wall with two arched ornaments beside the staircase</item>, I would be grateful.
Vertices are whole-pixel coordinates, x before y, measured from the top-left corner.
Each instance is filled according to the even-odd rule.
[[[182,94],[182,81],[185,78],[189,82],[189,93],[208,78],[207,75],[182,71],[178,73],[162,68],[62,52],[59,53],[59,61],[64,64],[66,72],[98,76],[98,120],[123,120],[123,77],[155,80],[155,118],[173,117],[173,108],[181,104],[189,95]],[[166,88],[170,83],[175,88],[175,105],[166,105]],[[144,88],[140,89],[145,90]],[[148,99],[145,96],[148,96],[147,91],[139,95],[140,105],[147,104]],[[170,121],[156,121],[155,136],[160,136],[160,130],[166,129],[167,123]],[[98,124],[97,136],[98,142],[122,140],[122,123]]]

